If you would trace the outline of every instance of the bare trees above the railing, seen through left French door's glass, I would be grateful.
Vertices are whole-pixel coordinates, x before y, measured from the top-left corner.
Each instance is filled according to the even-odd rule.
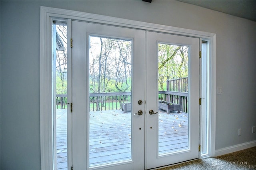
[[[112,80],[114,91],[130,90],[131,51],[130,41],[90,36],[90,92],[112,91]],[[97,111],[102,100],[91,99]]]

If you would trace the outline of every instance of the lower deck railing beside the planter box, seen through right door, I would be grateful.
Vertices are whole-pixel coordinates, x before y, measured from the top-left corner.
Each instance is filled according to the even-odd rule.
[[[180,104],[180,111],[188,113],[188,92],[159,91],[159,101]]]

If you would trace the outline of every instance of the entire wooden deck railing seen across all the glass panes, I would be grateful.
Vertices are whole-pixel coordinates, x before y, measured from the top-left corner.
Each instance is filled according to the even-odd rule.
[[[65,109],[67,95],[56,95],[57,109]],[[159,91],[159,101],[180,104],[180,111],[188,112],[188,77],[167,80],[166,91]],[[90,111],[122,109],[131,103],[131,92],[90,93]]]

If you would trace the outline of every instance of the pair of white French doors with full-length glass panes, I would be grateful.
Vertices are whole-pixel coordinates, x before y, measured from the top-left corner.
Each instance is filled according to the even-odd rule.
[[[72,41],[74,170],[144,170],[198,158],[199,39],[73,21]],[[176,48],[164,61],[163,46]],[[159,67],[171,59],[187,70],[186,112],[184,99],[172,103],[174,112],[158,108]]]

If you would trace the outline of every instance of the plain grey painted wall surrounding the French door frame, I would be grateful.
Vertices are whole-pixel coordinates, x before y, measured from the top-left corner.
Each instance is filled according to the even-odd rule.
[[[0,1],[1,168],[40,169],[40,6],[216,34],[216,149],[256,140],[256,22],[177,1]],[[238,136],[242,128],[242,136]]]

